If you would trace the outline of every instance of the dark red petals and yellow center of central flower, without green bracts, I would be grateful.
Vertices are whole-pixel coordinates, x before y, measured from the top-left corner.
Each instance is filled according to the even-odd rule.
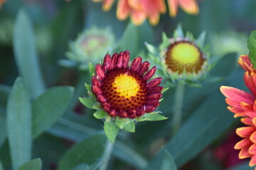
[[[103,64],[95,67],[92,93],[111,117],[136,118],[151,113],[159,106],[163,90],[162,78],[151,79],[156,67],[137,57],[129,65],[129,52],[106,55]]]

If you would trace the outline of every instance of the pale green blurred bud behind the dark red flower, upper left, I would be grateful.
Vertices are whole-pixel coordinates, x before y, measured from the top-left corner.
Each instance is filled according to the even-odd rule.
[[[114,34],[108,28],[100,29],[92,27],[83,31],[78,38],[69,43],[66,56],[86,68],[88,62],[95,63],[100,60],[99,56],[105,55],[112,50]]]

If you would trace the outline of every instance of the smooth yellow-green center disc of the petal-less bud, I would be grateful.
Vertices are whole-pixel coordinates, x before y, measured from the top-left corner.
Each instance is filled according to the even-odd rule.
[[[179,43],[172,49],[174,60],[183,64],[192,64],[199,60],[200,52],[195,45],[189,43]]]

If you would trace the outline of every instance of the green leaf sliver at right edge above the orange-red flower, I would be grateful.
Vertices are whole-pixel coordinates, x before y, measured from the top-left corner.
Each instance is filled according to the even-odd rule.
[[[247,46],[250,51],[250,61],[253,67],[256,68],[256,30],[252,30],[250,33],[250,38],[247,40]]]

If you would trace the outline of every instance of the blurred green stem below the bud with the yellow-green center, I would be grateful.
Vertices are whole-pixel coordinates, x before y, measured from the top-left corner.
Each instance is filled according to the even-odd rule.
[[[178,132],[178,129],[181,127],[184,90],[185,90],[185,84],[179,83],[176,86],[176,93],[174,98],[174,117],[172,120],[172,126],[173,126],[172,135],[175,135],[176,132]]]

